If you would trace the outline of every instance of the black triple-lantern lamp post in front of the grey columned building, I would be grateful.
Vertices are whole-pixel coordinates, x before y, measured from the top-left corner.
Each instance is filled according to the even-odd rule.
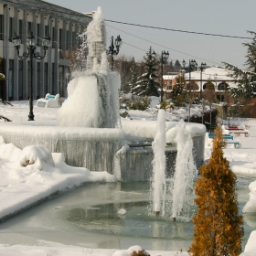
[[[12,43],[14,47],[16,48],[17,51],[17,56],[19,59],[27,59],[29,57],[30,59],[30,86],[29,86],[29,114],[28,114],[28,121],[34,121],[34,113],[33,113],[33,86],[32,86],[32,81],[33,81],[33,63],[32,59],[44,59],[46,57],[46,53],[48,48],[51,47],[51,41],[50,37],[46,36],[42,40],[42,47],[44,48],[44,55],[40,55],[39,52],[35,52],[36,49],[36,39],[33,35],[33,32],[30,31],[29,36],[27,37],[27,49],[28,52],[24,52],[22,55],[19,55],[19,48],[21,46],[21,40],[20,37],[18,37],[15,33],[14,37],[12,38]]]

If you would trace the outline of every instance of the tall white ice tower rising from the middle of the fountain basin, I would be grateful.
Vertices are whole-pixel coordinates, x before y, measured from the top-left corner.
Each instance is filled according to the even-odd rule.
[[[101,7],[86,31],[86,69],[73,73],[68,99],[59,109],[59,126],[121,128],[118,89],[120,75],[111,72],[106,55],[106,31]]]

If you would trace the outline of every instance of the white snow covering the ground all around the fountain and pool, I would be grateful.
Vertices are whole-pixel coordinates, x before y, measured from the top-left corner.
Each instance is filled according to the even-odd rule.
[[[27,121],[28,101],[13,101],[13,107],[0,106],[0,114],[13,122]],[[59,109],[34,107],[35,120],[56,120]],[[181,113],[182,114],[182,113]],[[134,120],[156,120],[156,111],[130,112]],[[171,114],[166,114],[171,118]],[[224,149],[231,169],[240,176],[252,176],[256,180],[256,121],[240,123],[250,132],[249,137],[236,137],[241,147]],[[0,134],[1,135],[1,134]],[[209,158],[211,149],[206,146],[205,158]],[[114,182],[115,178],[106,172],[92,173],[86,168],[72,167],[65,164],[61,154],[51,154],[41,146],[30,146],[23,150],[13,144],[5,144],[0,139],[0,218],[26,208],[38,200],[48,197],[59,190],[80,186],[84,182]],[[243,211],[256,214],[256,181],[251,183],[250,200]],[[241,255],[256,255],[256,231]],[[44,244],[44,243],[43,243]],[[119,250],[86,249],[70,247],[49,242],[46,246],[0,245],[0,255],[130,255],[139,247]],[[145,249],[146,250],[146,249]],[[151,255],[187,255],[187,252],[148,251]]]

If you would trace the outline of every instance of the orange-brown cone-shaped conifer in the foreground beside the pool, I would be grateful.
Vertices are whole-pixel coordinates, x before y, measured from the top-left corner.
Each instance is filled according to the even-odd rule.
[[[243,221],[239,216],[237,177],[229,169],[222,148],[225,139],[218,126],[208,165],[199,169],[196,183],[197,214],[193,218],[193,256],[237,256],[241,252]]]

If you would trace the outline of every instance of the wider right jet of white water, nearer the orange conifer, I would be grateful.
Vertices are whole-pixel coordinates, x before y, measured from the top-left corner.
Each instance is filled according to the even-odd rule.
[[[183,120],[176,124],[176,172],[174,176],[172,193],[172,218],[179,216],[189,219],[191,205],[194,204],[194,181],[197,176],[197,167],[193,158],[193,142],[188,134]]]

